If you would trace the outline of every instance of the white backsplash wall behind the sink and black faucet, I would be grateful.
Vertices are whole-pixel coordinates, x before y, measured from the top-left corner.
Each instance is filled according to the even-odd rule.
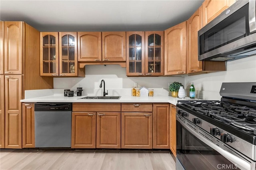
[[[138,83],[138,87],[153,88],[154,95],[169,95],[168,83],[179,81],[184,85],[184,77],[127,77],[126,68],[120,65],[86,65],[85,77],[56,77],[54,89],[76,90],[76,87],[83,87],[83,95],[100,95],[103,91],[103,85],[99,88],[102,79],[106,83],[105,89],[108,90],[109,95],[114,95],[111,93],[117,89],[118,92],[120,89],[126,91],[121,95],[130,95],[134,83]]]

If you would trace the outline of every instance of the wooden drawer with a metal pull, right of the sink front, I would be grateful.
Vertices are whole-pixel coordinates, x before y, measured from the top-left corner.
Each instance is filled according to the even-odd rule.
[[[122,103],[122,112],[152,112],[152,103]]]

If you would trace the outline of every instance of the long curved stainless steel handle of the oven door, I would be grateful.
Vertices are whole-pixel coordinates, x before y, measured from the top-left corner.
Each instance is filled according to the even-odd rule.
[[[207,144],[208,146],[210,146],[211,148],[213,148],[214,150],[216,150],[217,152],[219,152],[222,156],[224,156],[225,158],[227,158],[228,160],[230,160],[231,162],[235,162],[234,164],[240,168],[240,169],[245,169],[245,170],[250,170],[251,169],[251,165],[247,162],[245,162],[244,160],[242,160],[241,158],[238,158],[237,156],[231,154],[230,152],[220,148],[219,146],[217,146],[216,144],[210,142],[208,139],[204,138],[204,136],[198,134],[196,131],[194,131],[192,128],[188,127],[183,121],[182,119],[176,115],[176,120],[179,121],[179,123],[186,128],[186,130],[188,130],[190,133],[192,133],[194,136],[196,136],[198,139],[202,140],[202,142],[204,142],[205,144]]]

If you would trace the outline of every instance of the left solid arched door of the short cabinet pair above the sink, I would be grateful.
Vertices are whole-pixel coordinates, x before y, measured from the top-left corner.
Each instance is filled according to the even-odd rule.
[[[78,32],[78,61],[102,61],[101,32]]]

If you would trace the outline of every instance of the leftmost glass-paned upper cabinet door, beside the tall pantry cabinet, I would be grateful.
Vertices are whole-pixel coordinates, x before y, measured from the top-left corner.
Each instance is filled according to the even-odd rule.
[[[40,75],[59,75],[58,32],[40,32]]]

